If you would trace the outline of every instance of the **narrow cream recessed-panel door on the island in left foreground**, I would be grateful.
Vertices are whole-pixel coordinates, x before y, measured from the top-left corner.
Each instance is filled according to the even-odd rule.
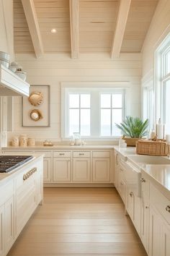
[[[14,196],[5,202],[5,252],[8,252],[14,242]]]

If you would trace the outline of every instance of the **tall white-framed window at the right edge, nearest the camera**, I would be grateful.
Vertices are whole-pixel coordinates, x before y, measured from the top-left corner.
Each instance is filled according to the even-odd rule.
[[[170,133],[170,35],[156,51],[156,119],[166,124],[166,134]]]

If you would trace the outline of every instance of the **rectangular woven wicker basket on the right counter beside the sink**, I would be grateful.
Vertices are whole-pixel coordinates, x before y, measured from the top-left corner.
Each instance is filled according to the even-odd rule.
[[[168,145],[164,141],[138,140],[136,153],[140,155],[167,155]]]

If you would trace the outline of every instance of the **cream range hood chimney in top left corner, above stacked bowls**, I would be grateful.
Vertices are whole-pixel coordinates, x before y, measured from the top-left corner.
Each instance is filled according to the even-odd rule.
[[[0,0],[0,51],[14,59],[13,0]]]

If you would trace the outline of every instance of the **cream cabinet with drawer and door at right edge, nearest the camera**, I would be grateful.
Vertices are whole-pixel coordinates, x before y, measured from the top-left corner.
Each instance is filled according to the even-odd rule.
[[[170,255],[170,200],[150,182],[149,256]]]

